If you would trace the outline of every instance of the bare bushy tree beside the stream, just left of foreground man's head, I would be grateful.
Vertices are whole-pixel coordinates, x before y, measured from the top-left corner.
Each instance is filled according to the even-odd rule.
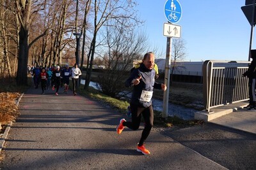
[[[141,59],[147,48],[147,37],[138,31],[126,31],[122,24],[106,29],[106,69],[99,76],[100,90],[118,97],[124,89],[124,78],[129,75],[133,60]],[[108,57],[108,58],[107,58]],[[119,96],[120,97],[120,96]]]

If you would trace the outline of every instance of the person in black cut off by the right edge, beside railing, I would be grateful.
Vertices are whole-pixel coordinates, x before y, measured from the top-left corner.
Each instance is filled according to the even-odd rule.
[[[250,102],[246,107],[248,111],[256,111],[256,50],[251,50],[252,62],[248,67],[248,70],[243,74],[249,78],[249,97]]]

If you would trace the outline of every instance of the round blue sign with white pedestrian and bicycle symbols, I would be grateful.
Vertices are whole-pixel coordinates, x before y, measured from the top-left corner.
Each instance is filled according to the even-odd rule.
[[[171,23],[179,22],[182,9],[178,0],[167,0],[164,5],[164,14],[166,19]]]

